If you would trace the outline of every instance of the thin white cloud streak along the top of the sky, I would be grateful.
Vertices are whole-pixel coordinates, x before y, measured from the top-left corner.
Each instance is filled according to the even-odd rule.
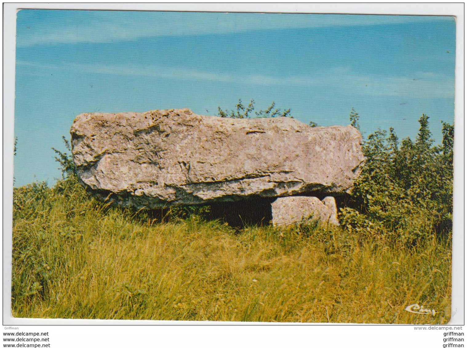
[[[47,11],[47,10],[23,10]],[[49,16],[29,24],[18,16],[17,46],[108,43],[148,37],[232,34],[251,30],[373,26],[450,17],[352,14],[240,14],[183,12],[73,11],[66,21]],[[21,12],[20,12],[21,13]],[[29,25],[29,29],[24,29]]]

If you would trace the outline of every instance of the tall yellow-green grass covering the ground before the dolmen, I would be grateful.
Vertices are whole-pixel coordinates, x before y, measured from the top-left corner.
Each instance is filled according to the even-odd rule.
[[[404,310],[414,303],[438,313]],[[15,188],[14,317],[444,324],[450,307],[449,237],[159,223],[73,178]]]

